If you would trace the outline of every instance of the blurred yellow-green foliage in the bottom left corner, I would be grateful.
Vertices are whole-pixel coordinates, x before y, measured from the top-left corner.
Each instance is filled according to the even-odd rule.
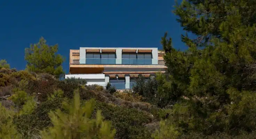
[[[20,139],[21,135],[17,132],[12,123],[14,112],[8,110],[0,103],[0,139]]]

